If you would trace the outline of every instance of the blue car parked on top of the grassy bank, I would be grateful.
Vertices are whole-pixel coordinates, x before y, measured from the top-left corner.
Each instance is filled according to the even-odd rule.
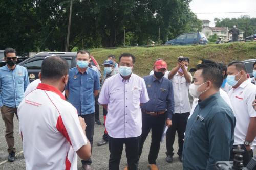
[[[183,33],[175,39],[165,42],[167,45],[188,45],[188,44],[207,44],[208,40],[204,33]]]

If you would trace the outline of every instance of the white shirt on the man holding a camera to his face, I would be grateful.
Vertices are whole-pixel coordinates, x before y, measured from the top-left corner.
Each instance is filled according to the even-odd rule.
[[[191,76],[191,74],[189,73]],[[171,79],[174,87],[174,112],[187,113],[190,112],[190,103],[188,98],[188,88],[191,82],[187,82],[184,75],[180,76],[177,72]],[[192,80],[192,76],[191,76]]]

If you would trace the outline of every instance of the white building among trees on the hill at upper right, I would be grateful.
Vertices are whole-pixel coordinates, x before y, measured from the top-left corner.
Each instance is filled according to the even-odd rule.
[[[218,37],[222,37],[223,41],[229,41],[232,39],[232,34],[228,33],[228,27],[209,27],[206,26],[202,29],[202,33],[205,34],[207,38],[209,38],[210,35],[217,34]],[[240,30],[239,37],[243,37],[244,32]]]

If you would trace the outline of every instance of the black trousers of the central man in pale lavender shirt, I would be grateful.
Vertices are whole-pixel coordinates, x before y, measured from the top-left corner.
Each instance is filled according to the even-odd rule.
[[[125,153],[129,170],[137,170],[139,162],[139,143],[140,136],[130,138],[112,138],[109,137],[109,170],[119,170],[119,164],[125,144]]]

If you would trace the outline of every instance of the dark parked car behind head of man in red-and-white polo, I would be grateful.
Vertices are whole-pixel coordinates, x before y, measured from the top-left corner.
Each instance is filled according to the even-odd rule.
[[[42,61],[46,56],[50,55],[58,55],[60,57],[63,57],[66,59],[66,61],[69,63],[69,67],[73,68],[76,66],[76,52],[40,52],[34,55],[33,57],[28,58],[27,60],[19,63],[19,65],[22,65],[27,68],[28,75],[29,75],[29,81],[32,82],[35,79],[38,79],[38,73],[41,70]],[[96,59],[91,56],[91,65],[96,66],[100,71],[100,66]],[[100,71],[101,72],[101,71]]]

